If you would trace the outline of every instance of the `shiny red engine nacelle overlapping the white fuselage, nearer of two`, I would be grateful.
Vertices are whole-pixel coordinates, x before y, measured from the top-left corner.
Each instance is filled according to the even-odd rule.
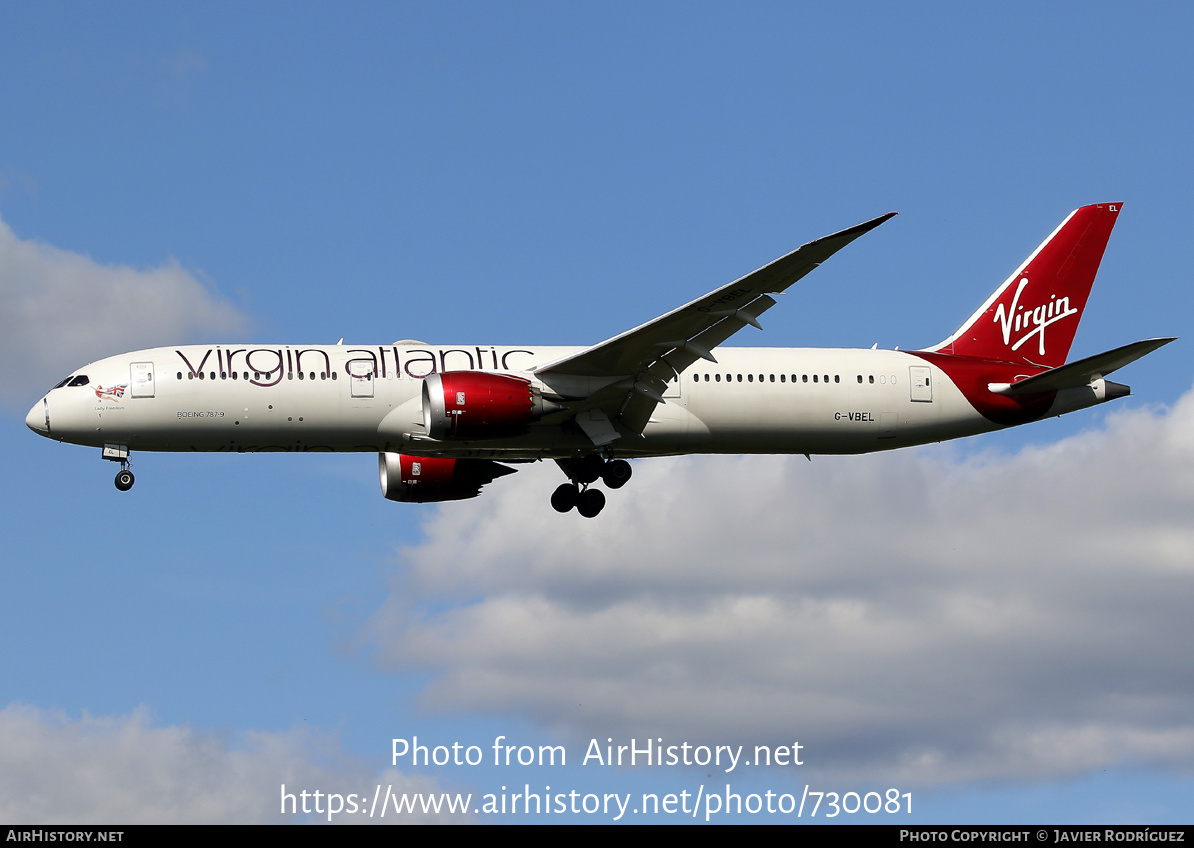
[[[423,380],[423,424],[431,438],[521,436],[542,413],[530,381],[486,371],[444,371]]]

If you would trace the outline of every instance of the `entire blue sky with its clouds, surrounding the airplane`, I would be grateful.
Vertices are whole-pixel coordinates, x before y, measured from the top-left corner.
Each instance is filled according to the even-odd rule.
[[[906,786],[909,821],[1188,821],[1184,342],[1106,413],[642,462],[583,524],[552,468],[416,506],[371,455],[139,455],[122,496],[23,418],[159,343],[592,343],[891,210],[741,343],[930,345],[1107,201],[1073,355],[1186,337],[1190,35],[1178,4],[0,6],[0,817],[272,821],[282,782],[523,780],[386,770],[393,737],[652,735],[799,738],[736,781]]]

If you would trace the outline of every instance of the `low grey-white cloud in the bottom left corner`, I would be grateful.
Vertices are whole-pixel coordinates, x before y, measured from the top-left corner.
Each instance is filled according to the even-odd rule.
[[[250,824],[326,822],[303,816],[297,793],[438,793],[433,780],[371,772],[310,733],[247,733],[239,744],[185,726],[155,727],[146,709],[68,718],[13,703],[0,711],[0,819],[12,824]],[[282,786],[298,815],[282,813]],[[371,801],[371,798],[368,799]],[[307,799],[314,810],[314,798]],[[347,800],[344,801],[347,805]],[[327,810],[326,794],[321,810]],[[448,822],[421,812],[382,819],[343,813],[341,824]],[[460,821],[460,817],[456,817]]]

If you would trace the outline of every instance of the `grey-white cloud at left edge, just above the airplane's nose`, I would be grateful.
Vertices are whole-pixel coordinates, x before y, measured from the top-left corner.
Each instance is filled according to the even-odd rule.
[[[177,262],[137,270],[17,238],[0,221],[0,403],[24,408],[101,356],[241,333],[247,317]]]

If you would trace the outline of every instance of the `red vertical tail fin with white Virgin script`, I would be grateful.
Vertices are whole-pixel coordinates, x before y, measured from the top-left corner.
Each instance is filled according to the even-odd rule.
[[[1075,209],[958,332],[929,350],[1051,368],[1065,364],[1121,207]]]

